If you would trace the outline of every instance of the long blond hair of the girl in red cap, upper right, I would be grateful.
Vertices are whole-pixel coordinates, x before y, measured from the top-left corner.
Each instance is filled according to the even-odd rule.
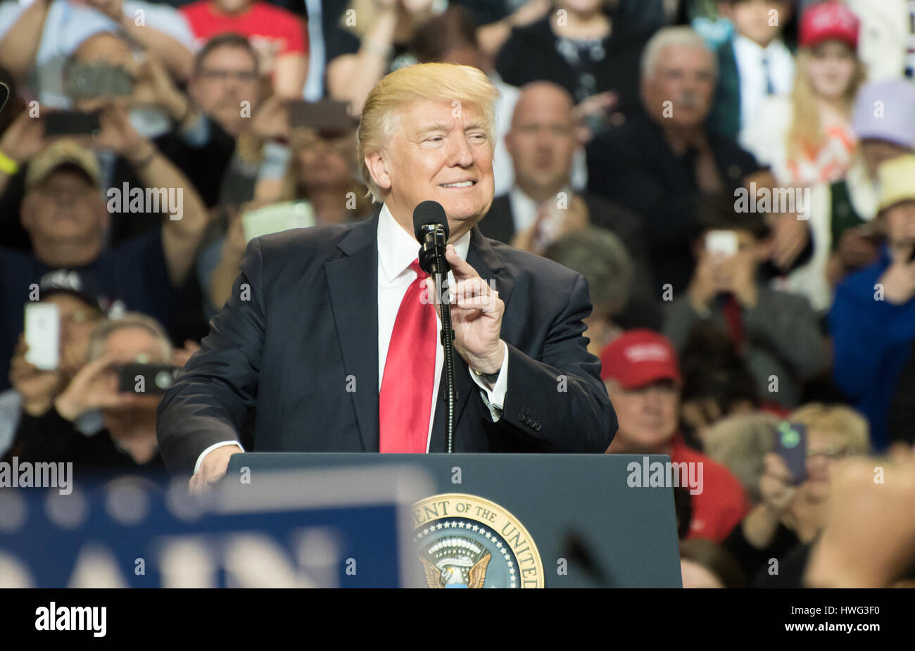
[[[819,98],[813,90],[813,83],[807,73],[813,53],[810,48],[799,48],[794,69],[794,88],[791,89],[791,126],[788,128],[788,160],[808,156],[816,157],[825,144],[826,134],[823,131],[823,122],[820,119]],[[861,59],[855,57],[855,74],[852,75],[848,88],[845,89],[845,112],[851,116],[852,107],[858,89],[867,77],[867,69]]]

